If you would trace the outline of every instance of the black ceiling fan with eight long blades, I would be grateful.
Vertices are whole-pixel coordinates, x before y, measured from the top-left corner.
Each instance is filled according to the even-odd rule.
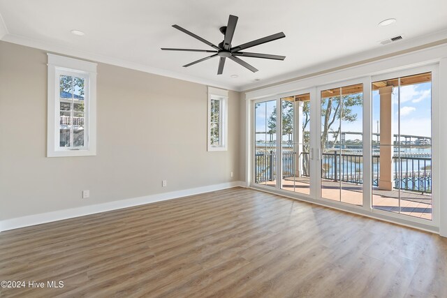
[[[200,36],[197,36],[196,34],[179,27],[179,25],[175,24],[173,27],[175,29],[178,29],[189,36],[192,36],[193,38],[196,38],[200,40],[201,42],[210,45],[210,47],[213,47],[214,50],[194,50],[194,49],[175,49],[175,48],[169,48],[169,47],[162,47],[161,50],[165,51],[184,51],[184,52],[205,52],[205,53],[214,53],[211,56],[198,59],[197,61],[193,61],[190,64],[186,64],[183,67],[188,67],[194,64],[198,64],[199,62],[205,61],[210,58],[214,57],[220,57],[219,61],[219,67],[217,68],[217,74],[221,75],[223,73],[223,66],[225,65],[226,58],[231,59],[235,61],[236,63],[244,66],[244,68],[248,68],[252,72],[256,73],[258,69],[254,68],[244,60],[238,58],[238,57],[254,57],[254,58],[263,58],[263,59],[274,59],[274,60],[284,60],[285,56],[279,56],[279,55],[271,55],[271,54],[259,54],[259,53],[251,53],[251,52],[240,52],[242,50],[248,49],[249,47],[254,47],[255,45],[262,45],[263,43],[268,43],[273,40],[277,40],[279,38],[284,38],[286,35],[283,32],[279,32],[270,36],[265,36],[263,38],[259,38],[253,41],[250,41],[249,43],[243,43],[242,45],[237,45],[236,47],[231,47],[231,40],[233,40],[233,34],[235,33],[237,19],[235,15],[230,15],[228,17],[228,25],[221,27],[219,30],[223,34],[224,38],[219,45],[214,45],[210,43],[208,40],[205,40],[201,38]]]

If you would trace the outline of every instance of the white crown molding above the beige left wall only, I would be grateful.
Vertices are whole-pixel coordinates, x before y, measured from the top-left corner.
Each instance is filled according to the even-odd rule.
[[[217,88],[221,88],[221,89],[228,89],[228,90],[233,90],[233,91],[239,91],[239,89],[240,89],[236,86],[222,84],[221,82],[217,82],[214,80],[205,80],[200,77],[193,77],[190,75],[182,75],[182,74],[170,71],[170,70],[154,68],[154,67],[146,66],[144,64],[135,64],[134,62],[131,62],[131,61],[108,57],[108,56],[104,56],[101,54],[95,54],[92,52],[85,52],[82,50],[75,50],[71,47],[56,45],[54,43],[47,43],[47,42],[43,42],[41,40],[26,38],[24,36],[17,36],[17,35],[8,33],[8,31],[6,31],[6,33],[3,34],[3,37],[1,37],[1,32],[2,32],[1,31],[2,30],[1,23],[2,23],[2,20],[0,20],[0,40],[6,41],[8,43],[15,43],[17,45],[24,45],[26,47],[34,47],[36,49],[45,50],[47,52],[52,52],[55,54],[62,54],[62,55],[76,57],[76,58],[80,58],[80,59],[86,59],[86,60],[90,60],[90,61],[94,61],[94,62],[100,62],[103,64],[110,64],[113,66],[130,68],[130,69],[139,70],[139,71],[142,71],[145,73],[152,73],[154,75],[162,75],[163,77],[171,77],[171,78],[178,79],[178,80],[184,80],[184,81],[188,81],[188,82],[204,84],[207,86],[217,87]],[[5,29],[6,29],[6,27],[5,27]]]

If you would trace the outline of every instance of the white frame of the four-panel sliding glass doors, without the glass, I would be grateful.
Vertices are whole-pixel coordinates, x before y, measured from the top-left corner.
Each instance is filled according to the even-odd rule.
[[[404,77],[407,75],[415,75],[417,73],[432,73],[432,221],[407,216],[404,214],[396,214],[393,212],[383,211],[380,209],[372,208],[372,82],[387,80],[394,77]],[[276,147],[277,147],[277,181],[276,186],[263,186],[261,184],[254,184],[254,170],[251,169],[252,178],[249,184],[252,188],[260,188],[265,191],[279,193],[291,198],[298,198],[308,200],[310,202],[316,202],[329,207],[335,207],[353,213],[359,213],[367,216],[378,215],[380,217],[389,218],[390,221],[409,221],[411,223],[420,223],[421,225],[427,225],[430,227],[439,227],[439,91],[438,91],[438,66],[427,65],[414,68],[407,68],[404,70],[397,70],[393,72],[384,72],[379,75],[369,75],[365,77],[359,77],[352,80],[341,80],[332,82],[330,84],[322,84],[312,88],[300,89],[297,91],[290,91],[276,96],[268,96],[265,98],[259,98],[257,100],[251,100],[251,114],[254,115],[255,103],[262,103],[269,100],[277,100],[277,135],[276,135]],[[363,105],[362,105],[362,154],[363,154],[363,184],[362,184],[362,206],[349,204],[346,202],[337,202],[321,198],[321,91],[326,89],[333,89],[338,87],[346,87],[354,84],[363,85]],[[281,98],[288,96],[295,96],[298,94],[311,94],[311,151],[313,151],[313,159],[311,159],[311,175],[310,175],[310,195],[302,193],[294,193],[291,191],[285,191],[281,189]],[[252,118],[254,121],[254,118]],[[251,140],[255,140],[254,131],[252,130]],[[253,147],[253,146],[252,146]],[[251,152],[252,167],[254,165],[254,148]]]

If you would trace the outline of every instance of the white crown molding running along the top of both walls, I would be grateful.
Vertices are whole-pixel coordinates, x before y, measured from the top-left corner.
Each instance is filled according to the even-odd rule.
[[[400,54],[415,52],[417,50],[423,50],[424,48],[441,45],[447,43],[447,29],[432,34],[428,34],[426,36],[421,36],[418,38],[402,40],[395,44],[379,46],[373,50],[360,52],[358,54],[351,54],[349,56],[342,57],[340,59],[325,61],[322,62],[321,64],[316,64],[309,68],[297,70],[292,73],[286,73],[284,75],[279,75],[277,77],[271,77],[269,79],[262,80],[261,82],[244,84],[242,86],[222,84],[221,82],[217,82],[214,80],[206,80],[200,77],[184,75],[170,70],[163,70],[161,68],[153,68],[150,66],[146,66],[144,64],[136,64],[131,61],[108,57],[101,54],[95,54],[92,52],[86,52],[82,50],[74,50],[71,47],[56,45],[54,43],[47,43],[41,40],[34,40],[31,38],[26,38],[24,36],[17,36],[14,34],[10,34],[8,33],[8,29],[6,28],[6,25],[4,24],[1,15],[0,15],[0,40],[6,41],[8,43],[15,43],[17,45],[35,47],[40,50],[54,52],[57,54],[64,54],[67,56],[76,57],[80,59],[87,59],[91,61],[101,62],[104,64],[111,64],[114,66],[139,70],[145,73],[152,73],[154,75],[172,77],[178,80],[204,84],[207,86],[217,87],[221,89],[247,92],[247,91],[254,91],[256,89],[272,87],[277,84],[284,84],[295,80],[301,80],[306,77],[313,77],[316,75],[331,73],[333,71],[342,70],[345,68],[350,68],[362,64],[368,64],[373,61],[379,61],[381,59],[394,57]]]

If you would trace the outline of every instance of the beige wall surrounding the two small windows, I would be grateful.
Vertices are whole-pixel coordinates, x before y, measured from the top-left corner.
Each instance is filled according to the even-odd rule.
[[[207,86],[107,64],[97,156],[45,157],[46,63],[42,50],[0,42],[0,220],[243,178],[240,93],[229,93],[228,151],[207,152]]]

